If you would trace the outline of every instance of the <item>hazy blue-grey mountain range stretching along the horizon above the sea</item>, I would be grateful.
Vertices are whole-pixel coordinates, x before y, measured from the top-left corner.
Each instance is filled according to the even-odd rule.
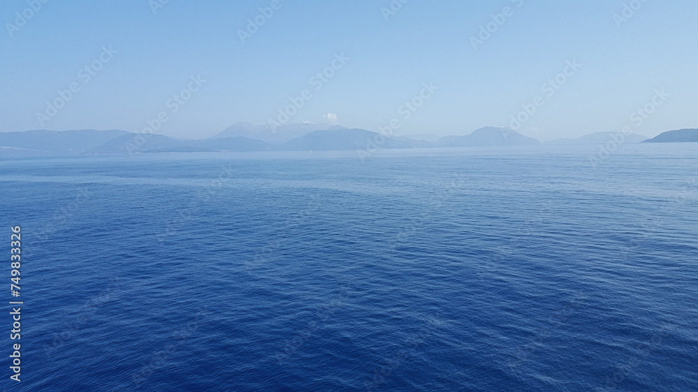
[[[558,139],[544,144],[607,143],[611,132],[596,132],[579,139]],[[698,141],[698,130],[676,130],[645,140],[625,135],[626,143]],[[454,148],[536,146],[536,139],[508,128],[484,127],[465,136],[427,134],[384,137],[376,132],[329,124],[288,124],[281,127],[237,123],[209,139],[178,140],[161,134],[121,130],[34,130],[0,132],[0,156],[26,157],[80,154],[133,154],[154,152],[364,150],[367,148]]]

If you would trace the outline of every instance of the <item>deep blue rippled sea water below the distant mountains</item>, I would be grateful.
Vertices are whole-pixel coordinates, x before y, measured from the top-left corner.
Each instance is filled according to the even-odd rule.
[[[3,388],[698,391],[697,147],[6,159]]]

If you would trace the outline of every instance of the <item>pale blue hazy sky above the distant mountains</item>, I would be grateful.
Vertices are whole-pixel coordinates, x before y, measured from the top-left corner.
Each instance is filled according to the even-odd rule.
[[[290,97],[292,123],[397,134],[508,127],[522,105],[519,132],[543,141],[698,127],[695,0],[34,1],[0,3],[0,131],[138,132],[165,112],[158,133],[200,138]]]

